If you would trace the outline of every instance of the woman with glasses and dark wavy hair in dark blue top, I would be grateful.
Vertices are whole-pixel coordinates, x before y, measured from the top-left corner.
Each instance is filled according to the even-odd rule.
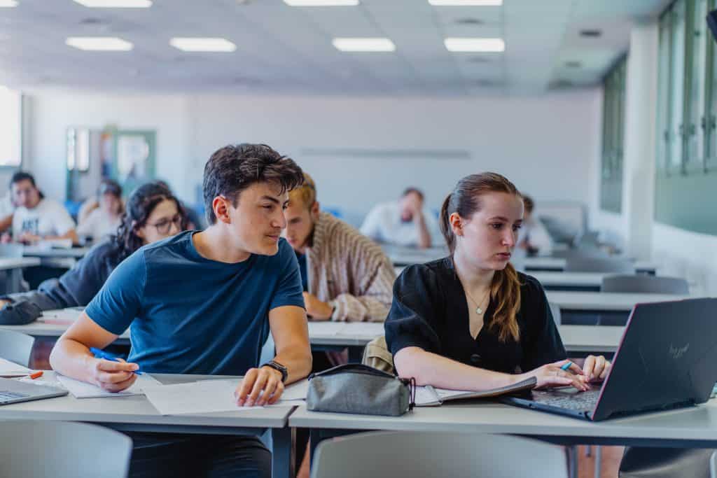
[[[24,324],[42,310],[89,304],[120,262],[143,245],[184,230],[185,222],[171,191],[157,183],[139,186],[130,194],[123,221],[109,241],[90,249],[60,279],[49,279],[38,290],[0,297],[0,324]]]

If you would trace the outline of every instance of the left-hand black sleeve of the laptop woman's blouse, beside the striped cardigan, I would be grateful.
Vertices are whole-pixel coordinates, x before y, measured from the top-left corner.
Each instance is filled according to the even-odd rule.
[[[393,302],[384,322],[392,354],[407,347],[441,353],[436,329],[441,320],[437,311],[443,307],[437,282],[437,274],[422,264],[407,267],[394,282]]]

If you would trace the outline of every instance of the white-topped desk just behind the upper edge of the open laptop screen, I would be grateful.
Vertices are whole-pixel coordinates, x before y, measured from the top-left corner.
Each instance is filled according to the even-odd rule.
[[[546,291],[548,301],[560,307],[563,323],[600,317],[601,322],[625,325],[635,304],[695,298],[689,295],[632,294],[624,292]]]

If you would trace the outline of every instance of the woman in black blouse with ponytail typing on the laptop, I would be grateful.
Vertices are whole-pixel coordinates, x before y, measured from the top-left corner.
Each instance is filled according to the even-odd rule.
[[[394,284],[386,343],[399,376],[419,385],[480,391],[535,376],[538,387],[587,390],[604,357],[568,363],[540,283],[510,264],[523,201],[495,173],[462,178],[445,199],[450,257],[404,269]]]

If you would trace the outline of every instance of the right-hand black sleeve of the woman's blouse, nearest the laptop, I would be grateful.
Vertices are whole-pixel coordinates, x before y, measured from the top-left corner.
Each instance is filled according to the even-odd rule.
[[[543,287],[534,277],[523,278],[526,281],[526,287],[523,287],[526,297],[522,300],[522,307],[527,327],[526,337],[521,338],[524,348],[521,369],[527,372],[546,363],[563,360],[567,353]]]

